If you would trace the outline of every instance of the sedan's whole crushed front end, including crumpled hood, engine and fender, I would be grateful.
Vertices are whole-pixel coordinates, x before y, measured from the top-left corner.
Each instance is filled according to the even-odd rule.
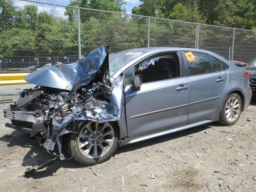
[[[105,54],[99,54],[99,49]],[[6,126],[29,133],[48,152],[54,152],[60,159],[65,159],[62,138],[64,135],[77,133],[81,122],[120,119],[120,109],[124,104],[124,78],[119,77],[110,82],[107,59],[108,46],[102,46],[91,52],[86,59],[83,58],[82,62],[78,60],[74,64],[68,64],[68,70],[65,70],[65,66],[48,66],[29,74],[25,80],[35,83],[33,79],[40,79],[42,83],[20,92],[18,102],[4,110],[4,117],[12,122]],[[105,67],[102,68],[103,64]],[[86,76],[86,73],[79,74],[78,68],[94,70]],[[62,76],[56,70],[62,72]],[[56,74],[58,78],[62,77],[58,79],[60,84],[52,82]],[[51,81],[47,82],[46,79]],[[63,81],[68,86],[63,87]],[[47,83],[49,86],[46,86]]]

